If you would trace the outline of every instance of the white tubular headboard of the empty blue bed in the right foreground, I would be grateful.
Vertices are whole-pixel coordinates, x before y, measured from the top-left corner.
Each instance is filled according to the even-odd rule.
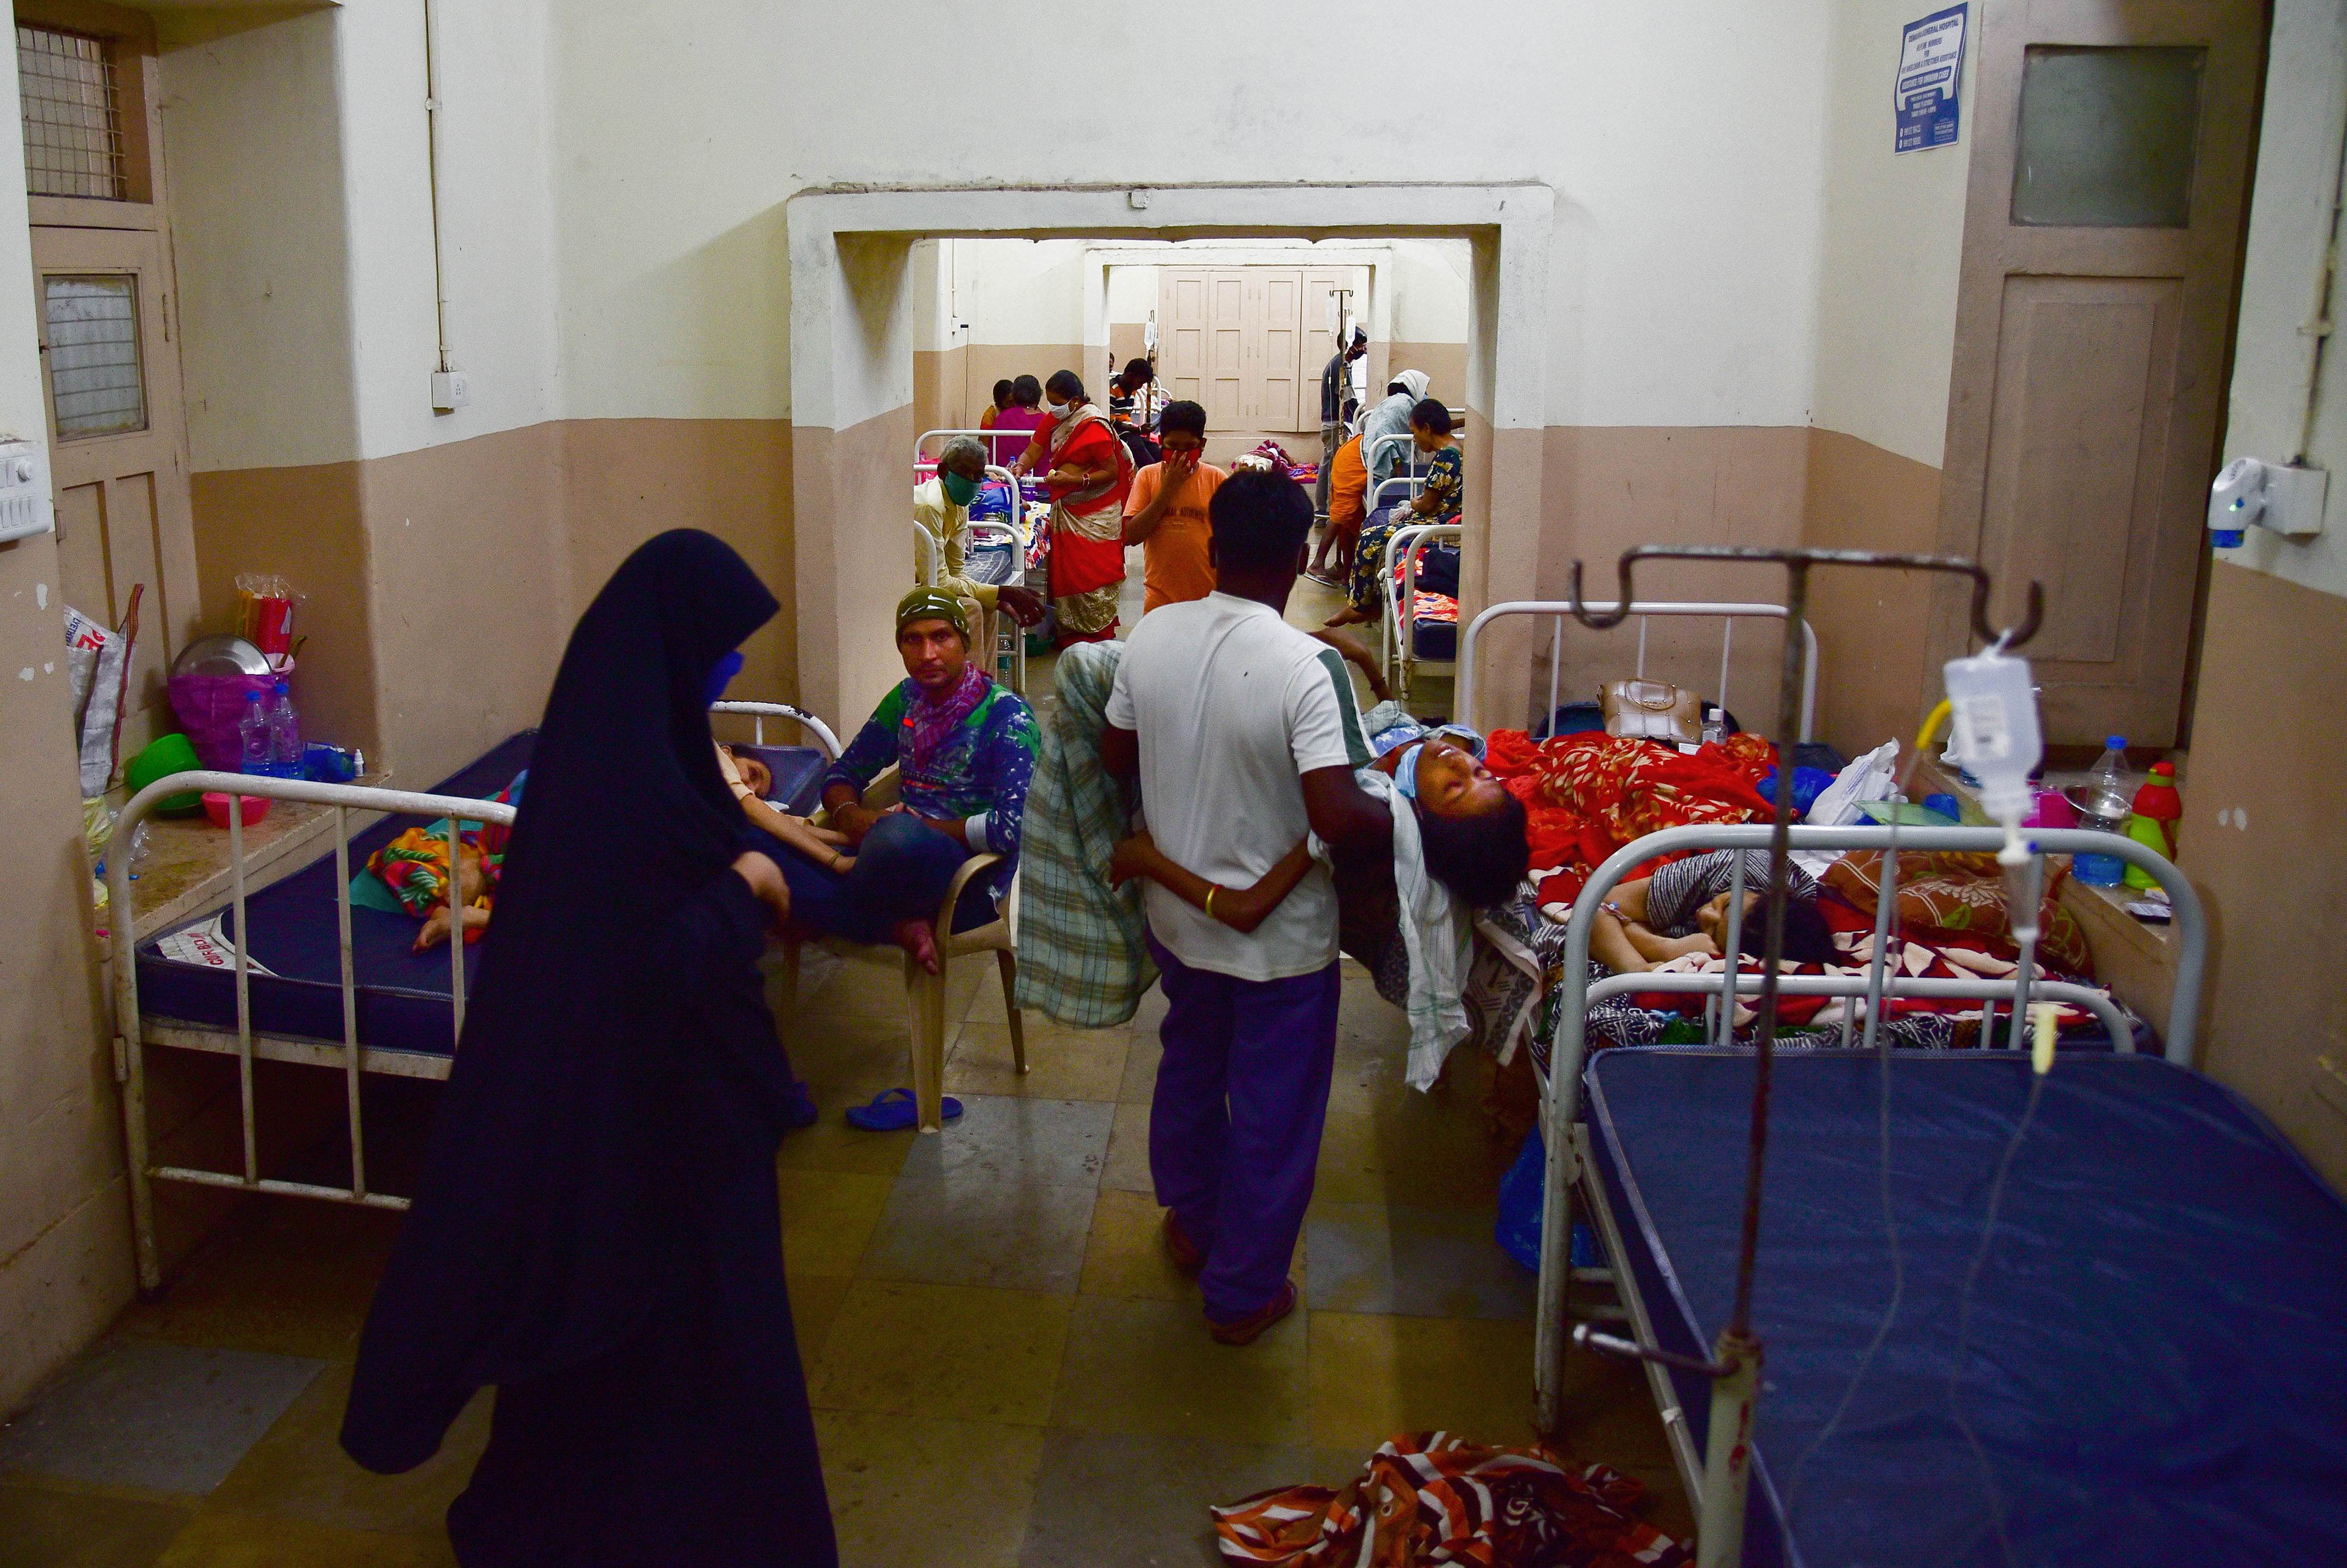
[[[1582,1178],[1584,1167],[1584,1131],[1580,1124],[1582,1113],[1582,1066],[1589,1052],[1589,1002],[1603,1000],[1622,991],[1678,991],[1678,993],[1711,993],[1720,1007],[1720,1028],[1727,1033],[1732,1028],[1727,1007],[1730,974],[1734,974],[1737,993],[1746,986],[1758,991],[1758,974],[1720,972],[1720,974],[1622,974],[1605,976],[1596,984],[1589,981],[1589,930],[1596,922],[1596,911],[1612,897],[1612,890],[1622,878],[1626,878],[1636,866],[1655,859],[1657,854],[1680,854],[1702,850],[1767,850],[1772,829],[1767,824],[1695,824],[1680,829],[1664,829],[1659,833],[1648,833],[1605,857],[1589,883],[1582,887],[1580,899],[1572,904],[1572,918],[1565,927],[1565,955],[1563,955],[1563,998],[1558,1005],[1556,1021],[1556,1045],[1549,1054],[1549,1077],[1542,1096],[1542,1138],[1547,1141],[1547,1185],[1542,1192],[1542,1232],[1540,1232],[1540,1307],[1537,1307],[1537,1343],[1535,1343],[1535,1385],[1540,1394],[1540,1420],[1542,1430],[1556,1430],[1561,1418],[1563,1399],[1563,1357],[1565,1357],[1565,1286],[1575,1277],[1591,1277],[1587,1270],[1572,1270],[1572,1183]],[[1788,831],[1788,843],[1793,850],[1880,850],[1885,852],[1885,885],[1875,899],[1875,951],[1864,981],[1856,976],[1779,976],[1777,988],[1786,995],[1866,995],[1868,998],[1868,1045],[1873,1045],[1875,1021],[1880,1016],[1880,1002],[1885,998],[1899,995],[1936,995],[1936,998],[1981,998],[1983,1002],[2009,1000],[2021,986],[2028,986],[2028,995],[2049,998],[2061,1002],[2077,1002],[2091,1007],[2103,1026],[2110,1028],[2112,1049],[2133,1052],[2133,1033],[2126,1028],[2124,1014],[2098,993],[2084,986],[2068,986],[2061,981],[2033,979],[2028,974],[2014,974],[2011,979],[1993,981],[1922,981],[1903,974],[1887,972],[1889,960],[1889,915],[1899,901],[1896,894],[1896,861],[1887,854],[1894,845],[1899,850],[1957,850],[1974,854],[1995,854],[2004,845],[2002,829],[1922,829],[1922,826],[1840,826],[1840,829],[1812,829],[1795,826]],[[2201,911],[2199,894],[2192,883],[2185,880],[2183,871],[2176,869],[2157,850],[2126,838],[2124,833],[2096,833],[2084,829],[2044,829],[2030,831],[2030,843],[2044,854],[2115,854],[2133,866],[2140,866],[2162,890],[2169,894],[2169,908],[2173,911],[2176,932],[2176,988],[2169,998],[2169,1038],[2164,1056],[2178,1066],[2192,1066],[2192,1042],[2199,1021],[2201,1000],[2201,976],[2209,960],[2209,918]],[[1739,948],[1741,922],[1741,899],[1730,897],[1730,927],[1723,946],[1734,953]],[[1845,1012],[1847,1030],[1847,1012]],[[1988,1021],[1983,1021],[1983,1042],[1993,1040]],[[1983,1045],[1981,1049],[2000,1049]],[[1605,1270],[1596,1277],[1610,1279]],[[1641,1326],[1641,1333],[1645,1329]],[[1652,1371],[1652,1364],[1650,1364]],[[1702,1467],[1692,1460],[1692,1439],[1687,1439],[1683,1425],[1671,1425],[1673,1448],[1683,1451],[1680,1472],[1697,1474]],[[1692,1467],[1690,1467],[1692,1465]],[[1692,1495],[1692,1493],[1690,1493]]]

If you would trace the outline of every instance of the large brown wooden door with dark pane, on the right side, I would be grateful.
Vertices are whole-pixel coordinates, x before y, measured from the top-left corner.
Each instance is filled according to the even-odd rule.
[[[2253,0],[2025,0],[1976,42],[1941,547],[2030,580],[2051,744],[2169,746],[2206,561]],[[1932,157],[1932,153],[1915,153]],[[1941,606],[1936,655],[1962,650]]]

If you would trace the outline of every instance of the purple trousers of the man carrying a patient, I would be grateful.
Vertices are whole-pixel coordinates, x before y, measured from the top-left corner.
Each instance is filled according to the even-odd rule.
[[[1338,967],[1279,981],[1192,969],[1155,937],[1166,1021],[1150,1101],[1157,1202],[1206,1253],[1206,1317],[1232,1322],[1279,1296],[1312,1202]]]

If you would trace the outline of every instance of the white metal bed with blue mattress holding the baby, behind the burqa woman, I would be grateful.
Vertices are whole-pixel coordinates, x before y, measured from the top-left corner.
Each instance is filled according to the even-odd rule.
[[[775,772],[777,803],[814,810],[824,770],[840,753],[838,735],[782,702],[716,702],[711,714],[751,723],[751,746]],[[770,718],[796,723],[814,744],[767,746]],[[312,784],[242,772],[178,772],[141,789],[115,817],[106,852],[110,962],[115,988],[115,1080],[122,1084],[122,1134],[129,1153],[131,1232],[138,1289],[162,1286],[155,1246],[153,1183],[174,1181],[279,1197],[312,1197],[368,1209],[406,1209],[408,1199],[366,1181],[361,1073],[446,1080],[465,1028],[465,993],[479,948],[413,953],[418,922],[401,913],[354,906],[352,871],[420,822],[446,822],[458,836],[472,824],[509,826],[514,807],[493,803],[528,768],[533,730],[523,730],[434,784],[430,791],[371,784]],[[131,915],[131,857],[117,854],[157,803],[185,791],[225,791],[300,800],[333,810],[333,850],[270,883],[246,887],[242,812],[230,810],[230,897],[223,906],[138,932]],[[357,815],[357,819],[354,819]],[[453,850],[451,850],[453,854]],[[178,1049],[237,1061],[242,1169],[157,1164],[148,1127],[148,1052]],[[338,1068],[345,1075],[350,1183],[284,1181],[261,1174],[253,1063]]]

